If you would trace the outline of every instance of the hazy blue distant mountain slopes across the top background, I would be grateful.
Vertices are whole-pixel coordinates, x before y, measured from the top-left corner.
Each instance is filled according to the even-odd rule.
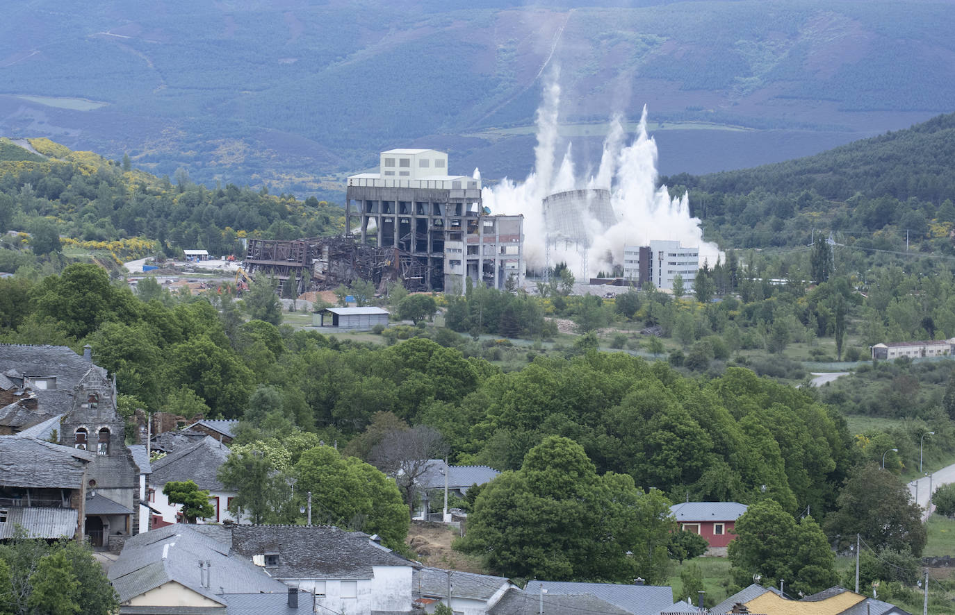
[[[728,149],[744,166],[953,111],[947,2],[567,4],[13,5],[0,26],[0,134],[128,153],[159,175],[328,194],[411,142],[442,142],[455,173],[524,173],[532,142],[487,129],[532,124],[557,65],[568,120],[635,118],[647,103],[667,122],[761,129],[674,138],[677,168],[693,148],[711,152],[709,168]]]

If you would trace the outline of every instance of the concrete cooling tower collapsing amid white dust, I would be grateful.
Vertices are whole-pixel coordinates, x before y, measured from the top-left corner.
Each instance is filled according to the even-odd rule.
[[[594,236],[617,223],[610,191],[603,188],[568,190],[543,199],[543,219],[548,243],[575,243],[589,248]]]

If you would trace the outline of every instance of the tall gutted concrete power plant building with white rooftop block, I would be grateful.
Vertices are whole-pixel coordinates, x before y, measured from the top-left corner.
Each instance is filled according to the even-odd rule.
[[[429,290],[463,289],[468,277],[502,289],[514,276],[523,285],[523,216],[490,215],[480,179],[447,169],[443,152],[382,152],[378,173],[348,179],[346,234],[354,225],[362,244],[410,253]]]

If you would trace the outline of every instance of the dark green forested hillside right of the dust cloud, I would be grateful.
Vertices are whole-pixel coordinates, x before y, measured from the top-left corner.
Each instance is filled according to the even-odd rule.
[[[815,230],[860,249],[950,256],[953,160],[955,114],[947,114],[788,162],[662,181],[690,190],[694,215],[721,245],[806,245]]]

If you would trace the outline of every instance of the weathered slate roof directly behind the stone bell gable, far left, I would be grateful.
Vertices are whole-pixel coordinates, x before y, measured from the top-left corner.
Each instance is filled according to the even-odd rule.
[[[0,344],[0,371],[17,386],[23,374],[31,378],[55,378],[55,389],[35,389],[39,409],[48,416],[69,412],[73,407],[73,387],[90,368],[103,377],[106,370],[83,359],[67,346]]]

